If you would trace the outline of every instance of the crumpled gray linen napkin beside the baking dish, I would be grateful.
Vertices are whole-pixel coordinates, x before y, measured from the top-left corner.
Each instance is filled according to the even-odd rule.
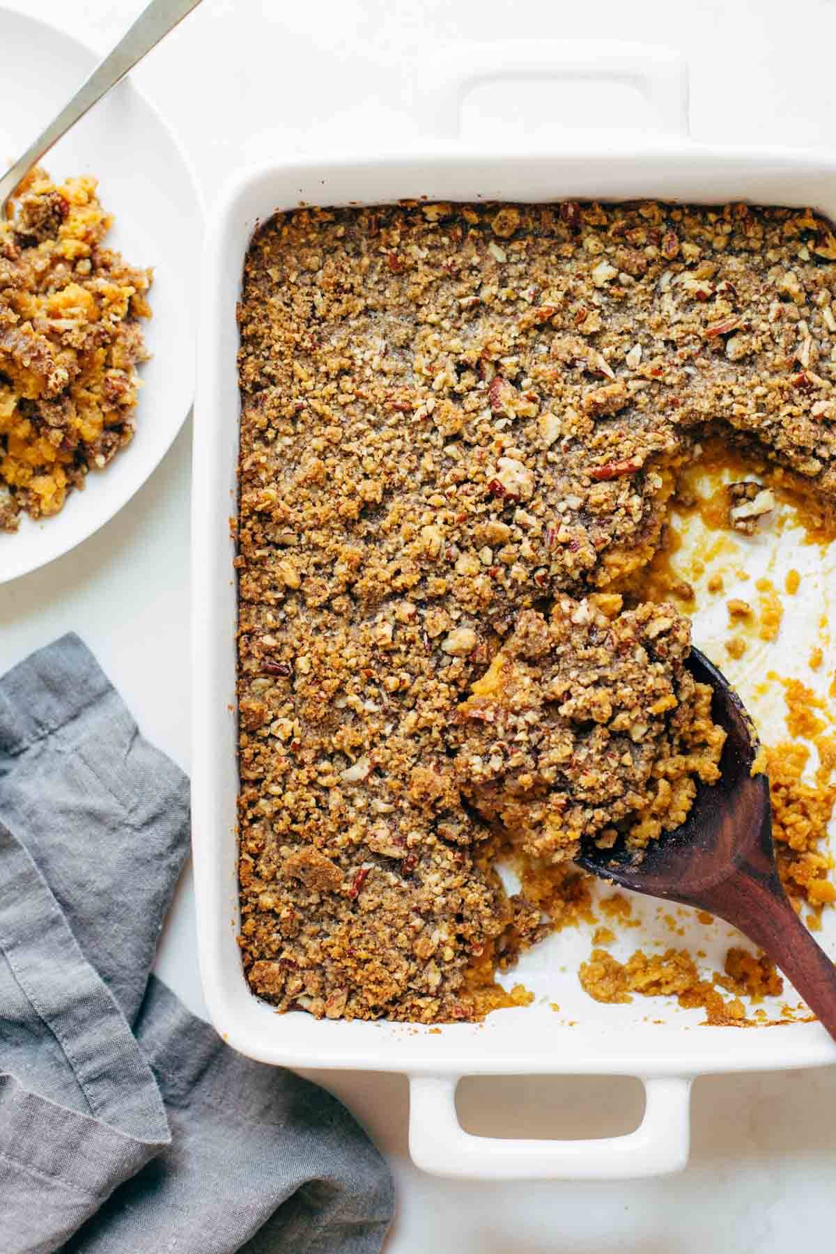
[[[0,680],[4,1254],[372,1254],[389,1171],[150,976],[188,781],[78,636]]]

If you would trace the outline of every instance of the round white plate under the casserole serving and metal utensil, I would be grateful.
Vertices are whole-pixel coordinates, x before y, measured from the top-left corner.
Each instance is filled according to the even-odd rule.
[[[30,143],[99,58],[69,35],[0,8],[0,167]],[[179,431],[194,393],[193,310],[203,229],[199,193],[185,157],[157,109],[120,83],[48,153],[55,178],[94,174],[117,217],[108,245],[134,266],[153,266],[153,317],[144,326],[152,360],[140,366],[137,433],[102,473],[90,472],[60,514],[23,518],[0,533],[0,583],[80,544],[143,485]]]

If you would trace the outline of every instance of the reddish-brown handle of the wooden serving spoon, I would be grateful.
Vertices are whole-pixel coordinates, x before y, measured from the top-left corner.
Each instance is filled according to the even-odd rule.
[[[738,872],[713,895],[709,909],[772,958],[836,1038],[836,967],[793,910],[777,877]]]

